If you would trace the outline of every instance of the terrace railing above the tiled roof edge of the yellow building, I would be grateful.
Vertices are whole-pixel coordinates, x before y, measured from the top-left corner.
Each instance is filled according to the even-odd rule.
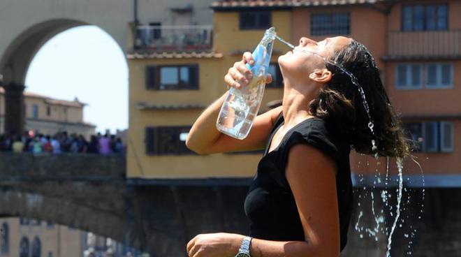
[[[211,25],[149,26],[136,27],[136,50],[152,52],[210,50]]]

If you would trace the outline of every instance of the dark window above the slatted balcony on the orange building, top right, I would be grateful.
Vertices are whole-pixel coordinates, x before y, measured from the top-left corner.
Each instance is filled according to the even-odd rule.
[[[447,17],[445,4],[403,6],[402,31],[447,30]]]

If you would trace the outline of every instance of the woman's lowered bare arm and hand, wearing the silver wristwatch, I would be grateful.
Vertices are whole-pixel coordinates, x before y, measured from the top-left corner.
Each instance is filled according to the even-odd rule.
[[[309,145],[288,154],[286,179],[295,198],[304,241],[251,240],[251,257],[338,257],[339,214],[334,161]],[[244,235],[201,234],[186,246],[191,257],[235,256]]]

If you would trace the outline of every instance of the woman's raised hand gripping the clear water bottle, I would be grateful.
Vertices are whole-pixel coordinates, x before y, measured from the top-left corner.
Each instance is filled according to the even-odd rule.
[[[234,66],[229,68],[227,74],[224,76],[224,81],[228,85],[228,87],[235,87],[236,89],[240,89],[240,87],[244,87],[248,85],[253,78],[253,74],[247,68],[245,64],[254,64],[253,56],[251,52],[244,52],[242,56],[242,61],[235,62]],[[272,82],[272,76],[268,74],[265,78],[266,83]]]

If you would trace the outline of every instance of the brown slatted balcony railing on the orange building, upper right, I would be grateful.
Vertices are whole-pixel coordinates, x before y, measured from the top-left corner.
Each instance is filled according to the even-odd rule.
[[[386,58],[460,59],[461,31],[390,32]]]

